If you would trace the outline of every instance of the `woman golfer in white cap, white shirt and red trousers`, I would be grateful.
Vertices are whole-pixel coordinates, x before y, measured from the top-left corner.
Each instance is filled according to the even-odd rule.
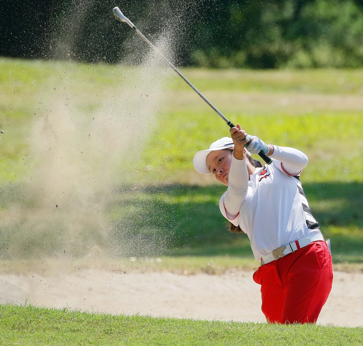
[[[244,232],[261,266],[253,280],[261,285],[262,312],[270,323],[314,323],[333,282],[329,246],[311,215],[299,179],[307,164],[301,151],[266,145],[241,126],[230,129],[193,165],[228,186],[220,211],[230,230]],[[262,150],[272,164],[261,166],[250,153]]]

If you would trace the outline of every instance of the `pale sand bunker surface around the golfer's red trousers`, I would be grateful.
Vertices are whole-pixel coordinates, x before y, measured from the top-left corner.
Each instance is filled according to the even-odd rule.
[[[363,274],[334,273],[333,290],[318,323],[363,325]],[[252,272],[178,275],[79,270],[49,276],[1,274],[0,303],[28,303],[112,314],[259,321],[260,286]]]

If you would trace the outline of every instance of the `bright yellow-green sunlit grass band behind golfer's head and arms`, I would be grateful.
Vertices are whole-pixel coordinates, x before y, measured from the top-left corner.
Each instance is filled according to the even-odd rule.
[[[267,143],[305,152],[309,164],[303,171],[303,182],[363,181],[363,141],[360,136],[363,112],[325,111],[295,115],[231,112],[226,115]],[[220,118],[205,111],[164,114],[158,125],[144,152],[143,167],[148,167],[146,174],[155,172],[160,180],[168,176],[171,181],[188,181],[194,154],[208,148],[216,139],[229,135],[228,127],[223,126]]]

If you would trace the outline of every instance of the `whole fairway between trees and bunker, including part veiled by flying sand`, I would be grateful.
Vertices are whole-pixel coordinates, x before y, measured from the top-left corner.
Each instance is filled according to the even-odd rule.
[[[110,241],[111,251],[125,256],[251,256],[248,239],[225,230],[217,207],[224,188],[191,163],[228,127],[172,71],[163,70],[150,89],[154,70],[5,58],[0,66],[0,205],[5,215],[20,215],[3,225],[3,259],[60,248],[79,256]],[[323,234],[332,238],[334,262],[362,262],[363,70],[183,73],[249,133],[308,155],[301,181]],[[131,77],[139,83],[135,95],[124,83]],[[10,229],[19,231],[24,220],[39,224],[48,205],[60,223],[57,234],[48,232],[53,221],[43,220],[36,232],[12,238]],[[77,242],[65,215],[79,229]],[[126,240],[129,246],[119,249]]]

